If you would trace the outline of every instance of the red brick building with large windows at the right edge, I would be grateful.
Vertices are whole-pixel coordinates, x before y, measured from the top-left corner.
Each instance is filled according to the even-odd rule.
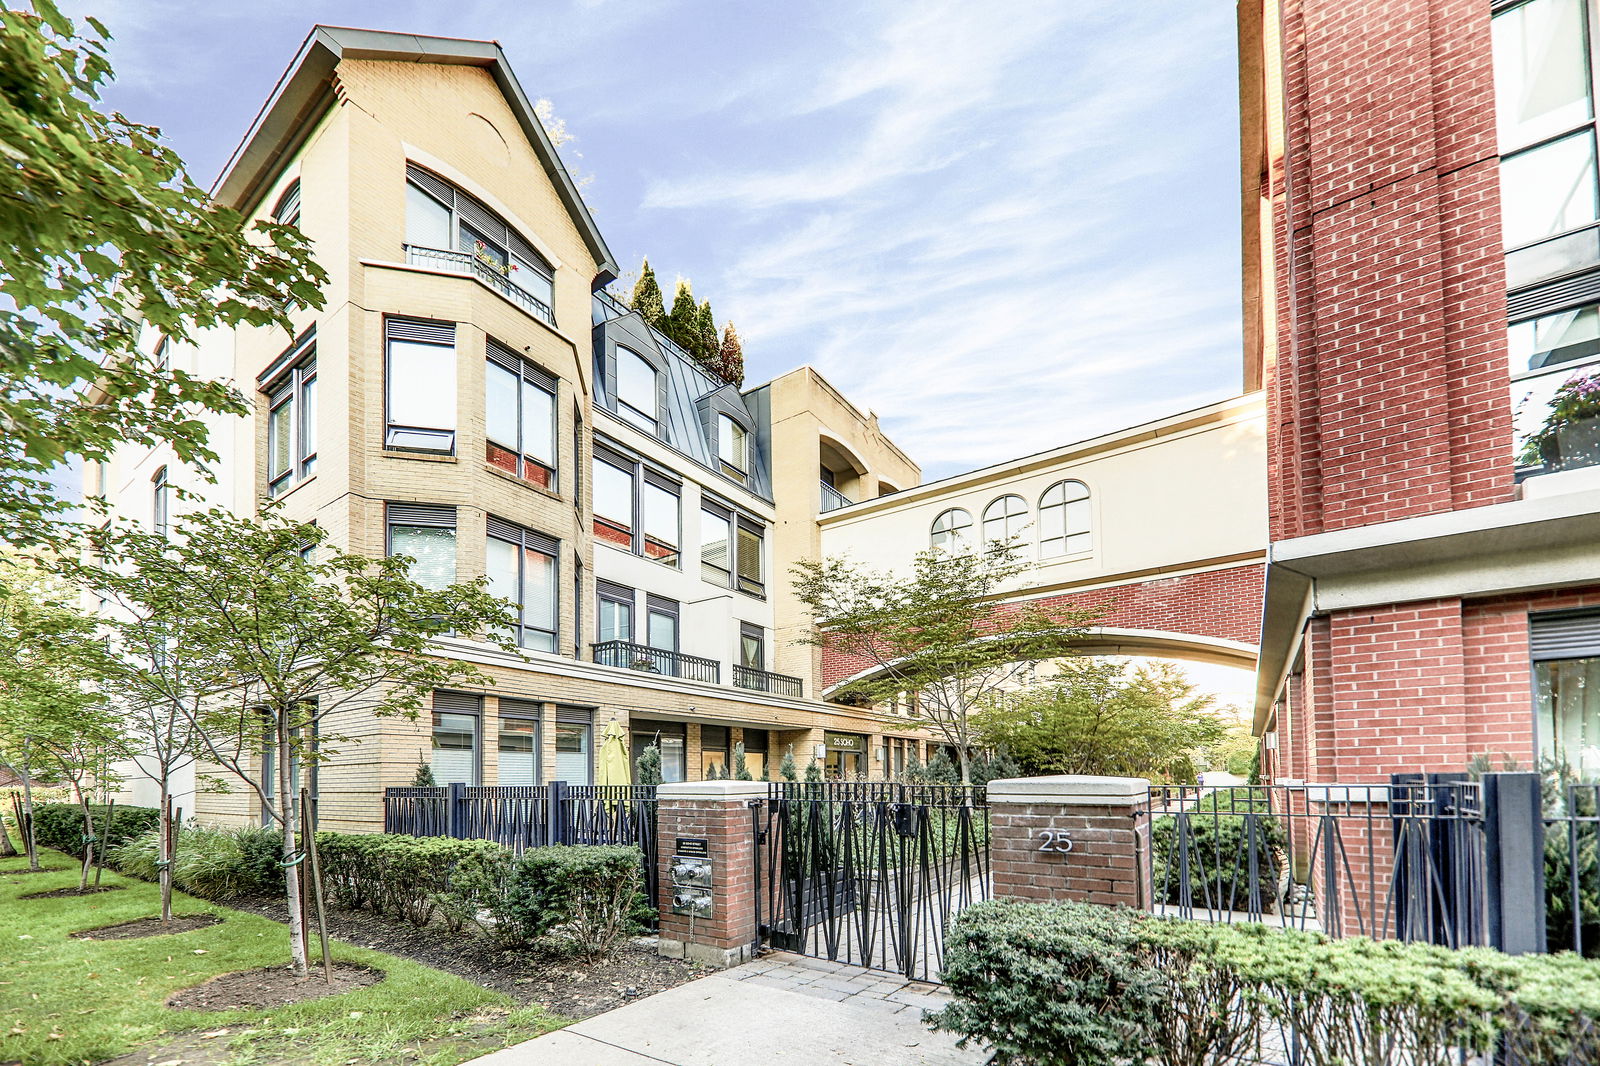
[[[1600,775],[1592,0],[1243,0],[1278,779]]]

